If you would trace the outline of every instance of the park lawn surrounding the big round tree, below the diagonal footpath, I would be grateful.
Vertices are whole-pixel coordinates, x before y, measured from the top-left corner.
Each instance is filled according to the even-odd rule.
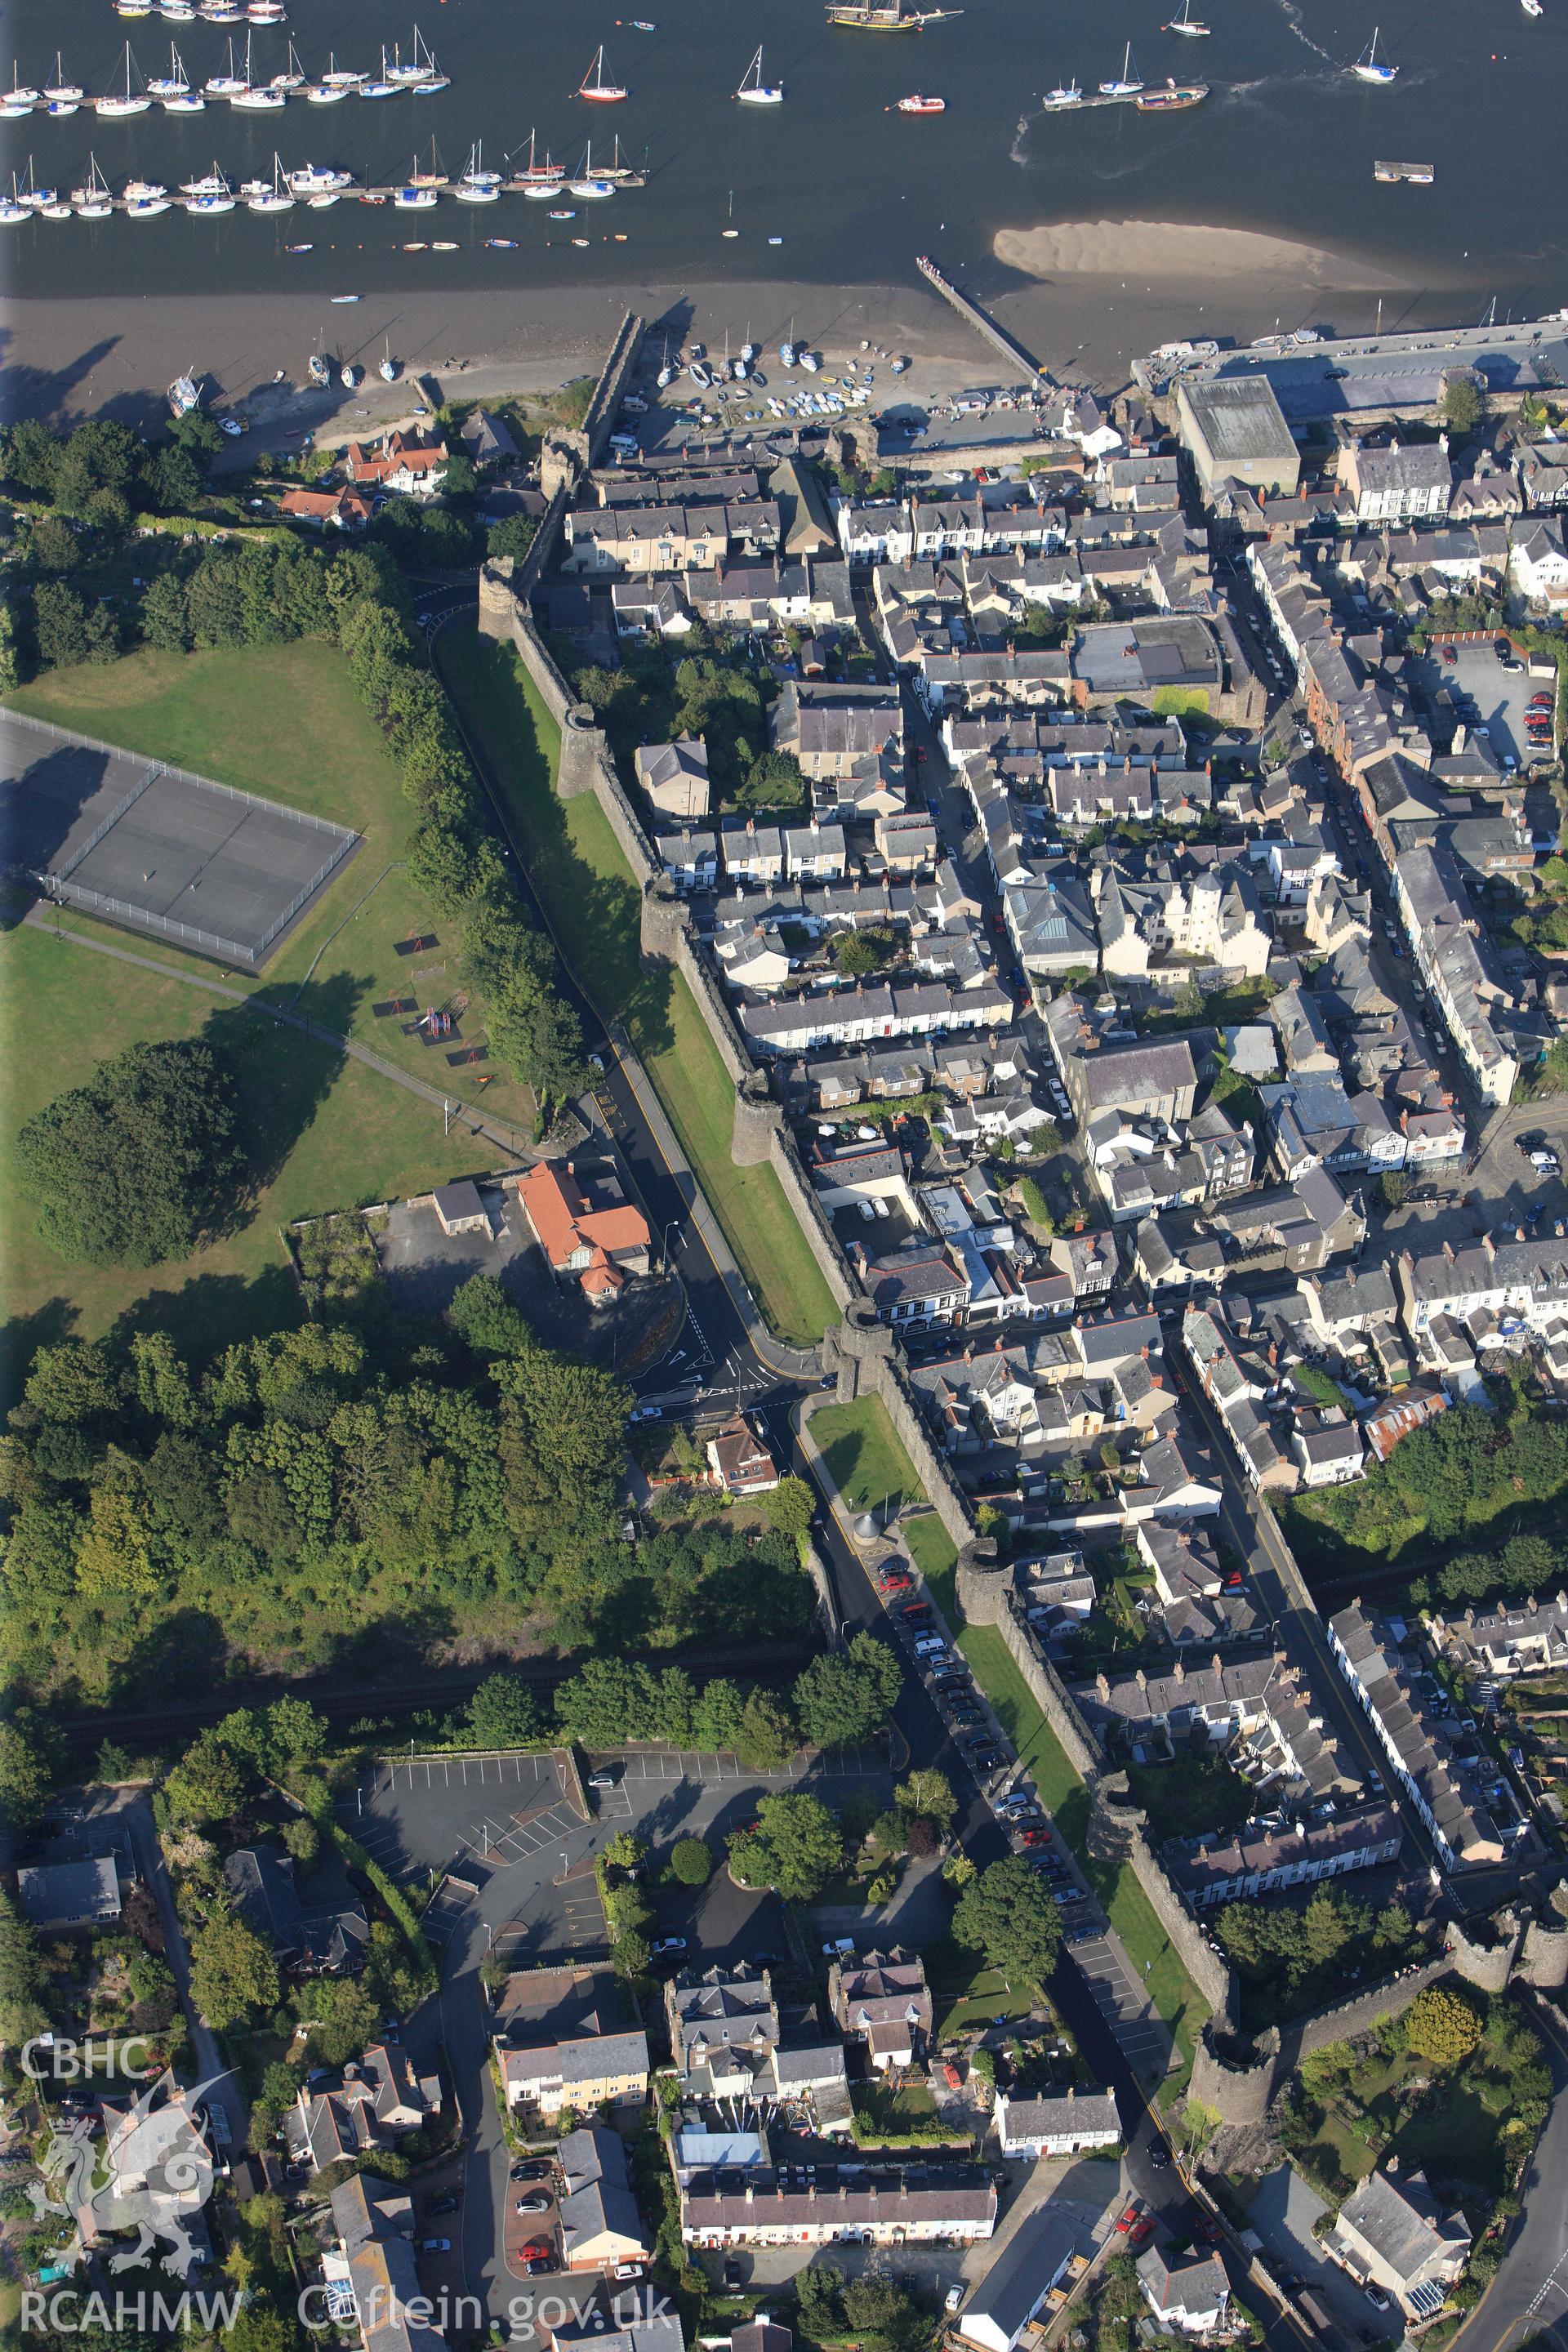
[[[141,943],[122,941],[125,946]],[[148,948],[148,955],[158,950]],[[440,1112],[362,1063],[273,1028],[183,978],[162,978],[52,929],[0,934],[0,1016],[12,1037],[0,1120],[0,1263],[7,1275],[9,1376],[52,1338],[113,1327],[167,1327],[205,1359],[230,1341],[299,1322],[280,1225],[322,1209],[428,1192],[491,1167],[475,1136],[442,1136]],[[19,1127],[99,1061],[153,1037],[193,1037],[207,1023],[235,1056],[242,1105],[270,1169],[235,1232],[181,1265],[115,1268],[59,1258],[35,1232],[16,1185]],[[21,1359],[21,1362],[19,1362]]]

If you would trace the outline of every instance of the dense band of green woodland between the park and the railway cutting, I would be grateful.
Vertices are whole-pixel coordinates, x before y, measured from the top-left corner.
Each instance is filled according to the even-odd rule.
[[[0,1437],[5,1679],[92,1705],[266,1663],[371,1703],[524,1625],[642,1656],[799,1637],[792,1536],[621,1538],[628,1406],[489,1277],[442,1322],[306,1324],[202,1371],[167,1334],[40,1348]]]

